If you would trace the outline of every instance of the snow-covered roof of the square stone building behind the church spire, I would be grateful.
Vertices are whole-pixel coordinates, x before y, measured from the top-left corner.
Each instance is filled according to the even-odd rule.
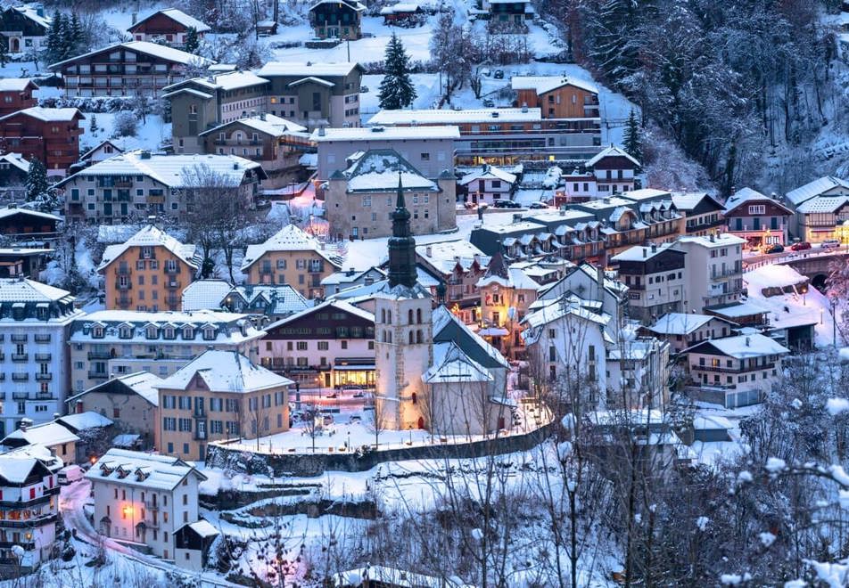
[[[363,153],[344,172],[347,192],[392,192],[399,182],[405,190],[439,192],[439,186],[422,176],[407,159],[392,149],[375,149]]]

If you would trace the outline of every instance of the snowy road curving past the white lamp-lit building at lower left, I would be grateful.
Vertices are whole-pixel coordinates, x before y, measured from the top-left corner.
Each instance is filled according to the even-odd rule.
[[[198,575],[187,572],[183,568],[178,568],[177,566],[169,564],[161,559],[144,555],[144,553],[130,549],[126,545],[122,545],[109,537],[98,534],[86,515],[85,505],[90,492],[91,484],[87,482],[87,480],[80,480],[74,484],[70,484],[69,486],[62,487],[62,494],[60,494],[59,497],[59,510],[62,512],[62,519],[65,522],[65,527],[68,527],[71,531],[76,530],[79,540],[91,543],[92,545],[97,545],[98,543],[103,542],[103,547],[105,549],[114,553],[119,553],[121,557],[132,559],[148,568],[156,568],[165,572],[177,572],[178,574],[192,576],[193,579],[198,581],[198,586],[201,588],[206,588],[208,586],[229,587],[237,585],[227,582],[226,580],[222,580],[210,573]]]

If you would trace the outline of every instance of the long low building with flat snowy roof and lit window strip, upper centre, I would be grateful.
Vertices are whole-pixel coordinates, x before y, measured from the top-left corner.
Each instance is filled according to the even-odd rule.
[[[457,127],[457,165],[512,165],[527,159],[589,159],[598,153],[601,144],[599,118],[549,119],[540,108],[529,107],[380,110],[368,124]]]

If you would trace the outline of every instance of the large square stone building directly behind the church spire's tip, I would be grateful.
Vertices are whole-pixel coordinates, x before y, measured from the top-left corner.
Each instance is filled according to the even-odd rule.
[[[434,182],[394,150],[359,154],[348,169],[326,183],[325,210],[337,239],[373,239],[392,234],[392,210],[399,185],[410,194],[414,234],[457,228],[457,183],[448,171]]]

